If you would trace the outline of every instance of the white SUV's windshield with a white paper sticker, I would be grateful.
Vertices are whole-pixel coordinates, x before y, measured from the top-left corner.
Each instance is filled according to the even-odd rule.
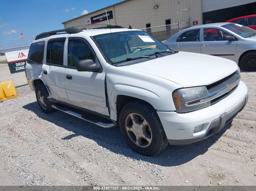
[[[169,50],[156,38],[140,30],[100,34],[93,38],[110,63]]]

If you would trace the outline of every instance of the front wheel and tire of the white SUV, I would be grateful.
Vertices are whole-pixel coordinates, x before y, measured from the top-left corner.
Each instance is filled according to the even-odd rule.
[[[139,154],[152,156],[163,151],[168,145],[156,111],[142,101],[127,103],[121,109],[119,124],[125,141]]]

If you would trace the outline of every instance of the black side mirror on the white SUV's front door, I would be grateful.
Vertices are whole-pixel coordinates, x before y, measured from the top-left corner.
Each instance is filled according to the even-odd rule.
[[[100,63],[94,62],[92,59],[76,62],[75,68],[78,72],[99,72],[101,70]]]

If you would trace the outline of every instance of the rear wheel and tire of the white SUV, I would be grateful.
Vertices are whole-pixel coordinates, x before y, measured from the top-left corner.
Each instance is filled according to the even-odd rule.
[[[52,113],[55,111],[52,107],[52,103],[47,98],[49,94],[44,84],[36,87],[35,96],[39,107],[44,113]]]

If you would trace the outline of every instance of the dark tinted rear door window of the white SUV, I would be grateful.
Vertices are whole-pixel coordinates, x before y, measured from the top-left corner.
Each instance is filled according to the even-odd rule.
[[[46,62],[63,65],[65,41],[51,42],[47,44]]]

